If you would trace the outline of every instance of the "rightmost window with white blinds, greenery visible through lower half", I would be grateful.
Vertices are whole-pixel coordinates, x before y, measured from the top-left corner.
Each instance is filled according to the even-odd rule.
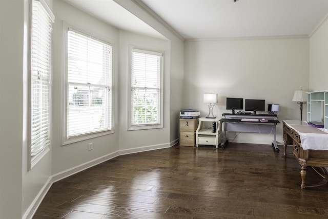
[[[131,50],[129,129],[162,127],[162,54]]]

